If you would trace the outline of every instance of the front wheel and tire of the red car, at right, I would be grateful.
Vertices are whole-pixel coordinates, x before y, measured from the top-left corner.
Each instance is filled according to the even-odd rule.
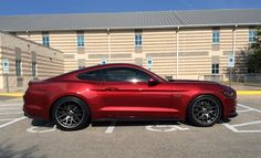
[[[187,119],[199,127],[215,125],[222,115],[222,106],[218,98],[211,95],[201,95],[192,101],[188,107]]]

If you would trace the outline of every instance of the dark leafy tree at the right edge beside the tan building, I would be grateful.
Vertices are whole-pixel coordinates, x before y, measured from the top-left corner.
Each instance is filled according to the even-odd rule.
[[[250,70],[261,72],[261,28],[258,29],[257,36],[248,49],[247,64]]]

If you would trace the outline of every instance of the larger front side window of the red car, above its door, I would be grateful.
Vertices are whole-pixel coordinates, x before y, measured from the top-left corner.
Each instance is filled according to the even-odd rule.
[[[148,82],[150,76],[145,72],[128,67],[104,70],[106,82]]]

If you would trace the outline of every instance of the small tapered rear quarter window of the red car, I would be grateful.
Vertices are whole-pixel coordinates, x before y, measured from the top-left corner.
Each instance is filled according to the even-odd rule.
[[[103,75],[101,71],[91,71],[91,72],[85,72],[81,73],[77,75],[80,80],[84,81],[103,81]]]

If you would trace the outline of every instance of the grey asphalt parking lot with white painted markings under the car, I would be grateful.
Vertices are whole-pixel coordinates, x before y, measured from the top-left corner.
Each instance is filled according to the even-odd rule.
[[[213,127],[178,122],[95,123],[61,131],[22,114],[21,98],[1,98],[0,157],[261,157],[261,96],[239,96],[239,116]]]

